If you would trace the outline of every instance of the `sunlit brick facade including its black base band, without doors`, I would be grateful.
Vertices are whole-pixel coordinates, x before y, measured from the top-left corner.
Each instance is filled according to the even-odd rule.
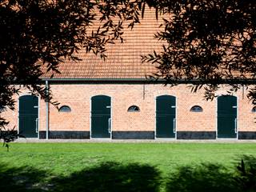
[[[71,111],[59,112],[55,106],[49,105],[49,138],[90,138],[91,98],[95,95],[111,98],[110,138],[157,138],[156,97],[160,95],[173,95],[177,99],[176,134],[171,139],[218,138],[217,99],[206,102],[202,90],[194,94],[186,85],[62,82],[50,87],[60,106],[70,106]],[[26,94],[26,90],[22,94]],[[226,90],[219,90],[218,94],[226,94]],[[238,98],[238,138],[256,138],[253,106],[244,90],[238,90],[235,96]],[[140,111],[128,112],[130,106],[138,106]],[[190,111],[192,106],[201,106],[202,112]],[[5,114],[10,127],[18,129],[18,103],[16,109]],[[40,100],[38,111],[38,138],[46,138],[46,102]]]

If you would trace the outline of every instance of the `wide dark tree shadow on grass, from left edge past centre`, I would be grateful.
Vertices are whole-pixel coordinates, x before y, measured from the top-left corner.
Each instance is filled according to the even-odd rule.
[[[158,192],[160,172],[154,166],[132,163],[122,165],[106,162],[71,174],[53,177],[50,173],[30,166],[10,167],[0,164],[0,191],[120,191]]]

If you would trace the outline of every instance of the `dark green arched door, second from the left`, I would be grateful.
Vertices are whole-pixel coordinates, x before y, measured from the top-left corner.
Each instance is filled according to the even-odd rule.
[[[111,98],[97,95],[91,98],[91,138],[110,138]]]

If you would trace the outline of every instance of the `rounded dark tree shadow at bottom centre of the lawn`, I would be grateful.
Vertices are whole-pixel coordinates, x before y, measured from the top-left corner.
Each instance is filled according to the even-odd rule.
[[[55,191],[66,192],[157,192],[160,183],[160,172],[154,166],[105,162],[71,174],[70,177],[58,178],[54,186]]]

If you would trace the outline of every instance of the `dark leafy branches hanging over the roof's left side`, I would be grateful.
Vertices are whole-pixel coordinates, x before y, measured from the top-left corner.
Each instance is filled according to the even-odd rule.
[[[122,23],[133,28],[139,22],[140,5],[129,0],[0,0],[1,138],[7,137],[8,124],[1,114],[14,110],[14,95],[26,88],[58,105],[41,85],[42,74],[58,73],[66,59],[78,61],[75,53],[81,49],[106,58],[106,45],[122,42]],[[93,22],[100,23],[97,30]]]

